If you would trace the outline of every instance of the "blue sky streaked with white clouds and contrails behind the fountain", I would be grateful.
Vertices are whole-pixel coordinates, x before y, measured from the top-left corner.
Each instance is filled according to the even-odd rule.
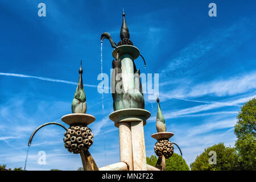
[[[46,17],[38,4],[46,4]],[[217,17],[208,5],[217,5]],[[96,117],[90,153],[98,167],[119,162],[118,129],[108,115],[112,95],[97,92],[102,32],[118,43],[125,9],[130,39],[146,60],[141,73],[159,73],[167,131],[192,163],[205,147],[234,146],[237,111],[256,96],[255,1],[0,1],[0,164],[24,167],[28,139],[39,125],[61,122],[71,103],[82,59],[87,113]],[[103,72],[110,75],[112,47],[103,43]],[[146,155],[154,155],[156,102],[144,95],[151,117],[144,126]],[[64,124],[65,125],[65,124]],[[67,126],[67,125],[65,125]],[[28,170],[76,170],[79,155],[64,148],[64,130],[36,133]],[[38,152],[46,152],[46,165]],[[175,147],[175,151],[177,148]]]

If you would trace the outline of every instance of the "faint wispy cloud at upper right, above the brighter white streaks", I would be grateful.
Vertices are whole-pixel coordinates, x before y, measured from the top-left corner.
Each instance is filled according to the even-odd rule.
[[[162,73],[166,76],[184,76],[197,72],[199,67],[207,64],[207,61],[216,61],[236,50],[253,35],[251,30],[254,30],[254,27],[255,24],[249,20],[240,19],[231,26],[205,32],[169,61]]]

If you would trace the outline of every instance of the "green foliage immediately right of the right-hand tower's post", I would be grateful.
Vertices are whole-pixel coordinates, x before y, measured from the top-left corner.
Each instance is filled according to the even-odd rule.
[[[166,171],[189,171],[189,167],[181,155],[174,153],[166,159]]]

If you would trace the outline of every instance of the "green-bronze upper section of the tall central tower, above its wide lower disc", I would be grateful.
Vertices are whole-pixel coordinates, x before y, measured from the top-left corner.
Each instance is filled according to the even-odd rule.
[[[133,42],[129,39],[130,34],[124,12],[122,16],[123,22],[120,31],[121,42],[119,42],[118,45],[114,43],[108,32],[101,34],[101,42],[105,38],[109,39],[110,44],[114,48],[113,56],[115,60],[112,62],[113,73],[111,80],[113,109],[114,111],[130,108],[144,109],[140,71],[139,69],[137,70],[134,63],[134,60],[137,59],[140,54],[138,49],[133,46]],[[145,61],[144,65],[146,65]]]

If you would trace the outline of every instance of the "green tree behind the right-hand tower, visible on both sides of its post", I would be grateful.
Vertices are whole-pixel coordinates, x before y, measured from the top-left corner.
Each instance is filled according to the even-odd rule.
[[[147,158],[147,164],[156,166],[158,158],[155,155],[151,155]],[[166,159],[166,171],[189,171],[188,164],[180,155],[174,153],[170,158]]]

